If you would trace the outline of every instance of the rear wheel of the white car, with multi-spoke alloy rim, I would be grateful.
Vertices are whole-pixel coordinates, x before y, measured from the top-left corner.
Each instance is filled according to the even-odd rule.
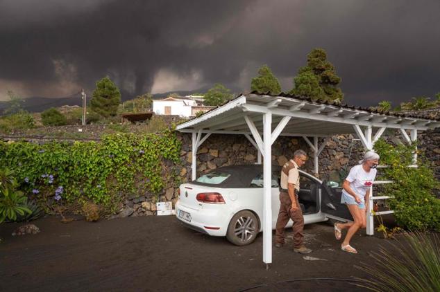
[[[236,246],[251,244],[259,230],[258,219],[251,211],[240,211],[230,219],[226,237]]]

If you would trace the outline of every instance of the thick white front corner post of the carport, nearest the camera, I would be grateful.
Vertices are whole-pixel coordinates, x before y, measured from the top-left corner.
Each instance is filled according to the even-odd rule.
[[[271,141],[272,113],[263,114],[263,262],[266,269],[272,262],[272,141]]]

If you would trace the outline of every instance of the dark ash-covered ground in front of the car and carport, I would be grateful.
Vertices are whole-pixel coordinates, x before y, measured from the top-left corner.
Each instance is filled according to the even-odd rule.
[[[250,246],[232,246],[180,226],[174,217],[133,217],[97,223],[34,221],[37,235],[12,237],[22,224],[0,225],[0,291],[364,291],[348,282],[302,278],[364,276],[353,268],[371,262],[384,239],[356,235],[359,254],[339,250],[326,223],[305,228],[310,261],[288,244],[262,264],[262,235]]]

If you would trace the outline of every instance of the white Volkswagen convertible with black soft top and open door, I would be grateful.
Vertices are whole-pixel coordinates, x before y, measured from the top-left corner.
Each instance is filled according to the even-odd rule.
[[[280,209],[280,167],[272,176],[272,229]],[[353,220],[348,208],[340,203],[341,188],[330,188],[316,177],[300,170],[298,199],[305,224]],[[332,183],[332,185],[335,185]],[[262,231],[262,165],[219,167],[179,188],[176,217],[194,230],[212,236],[226,236],[232,244],[251,244]],[[292,221],[287,223],[290,227]]]

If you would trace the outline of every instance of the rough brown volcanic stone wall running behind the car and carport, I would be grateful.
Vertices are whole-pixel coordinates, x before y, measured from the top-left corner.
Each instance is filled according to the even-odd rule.
[[[101,129],[92,128],[91,131]],[[167,165],[178,167],[181,183],[191,181],[192,173],[192,135],[180,134],[182,141],[180,151],[180,165]],[[399,136],[392,133],[389,137],[391,143],[396,143]],[[3,140],[15,140],[3,138]],[[33,143],[45,143],[46,140],[30,139]],[[440,129],[425,131],[418,135],[419,149],[425,152],[425,157],[434,164],[437,179],[440,179]],[[320,141],[321,145],[321,141]],[[303,170],[313,174],[313,154],[309,145],[301,137],[279,137],[272,146],[272,165],[283,165],[291,158],[297,149],[303,149],[310,154],[310,159],[305,163]],[[319,177],[338,181],[342,175],[341,168],[349,170],[362,158],[364,148],[359,140],[353,140],[352,135],[333,136],[319,156]],[[257,150],[243,135],[212,134],[197,152],[197,176],[226,165],[254,164],[257,162]],[[159,195],[159,201],[172,201],[178,199],[178,182],[168,181],[167,187]],[[155,196],[130,195],[124,201],[124,206],[115,217],[155,215]]]

